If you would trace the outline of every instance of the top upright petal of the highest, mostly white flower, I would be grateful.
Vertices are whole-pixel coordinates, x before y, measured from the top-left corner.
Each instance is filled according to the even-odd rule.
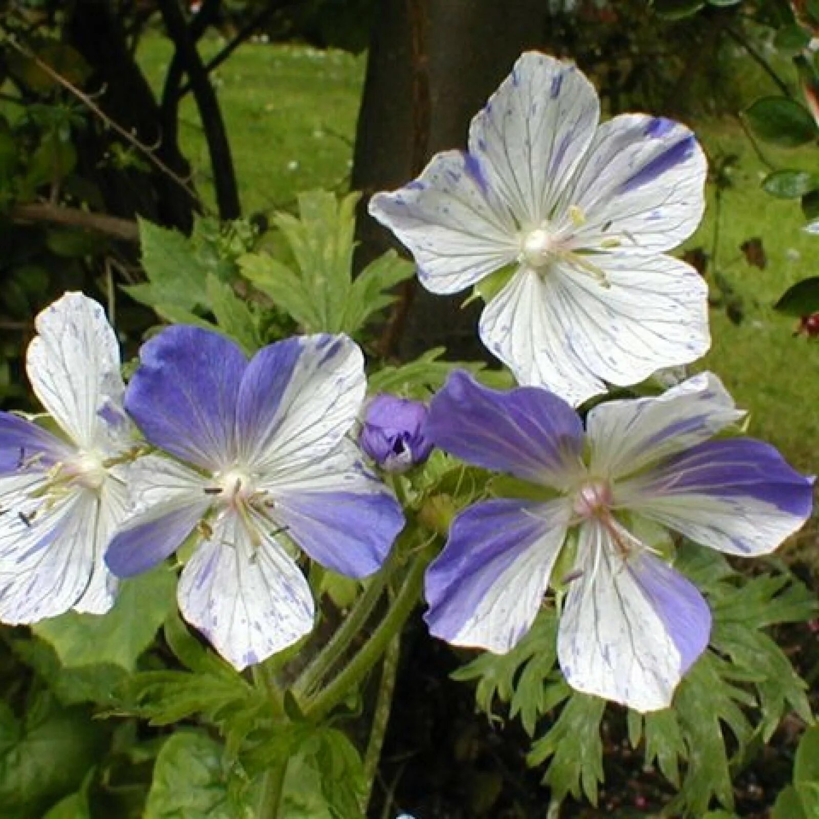
[[[469,152],[523,229],[550,216],[599,116],[597,93],[581,71],[527,52],[474,118]]]

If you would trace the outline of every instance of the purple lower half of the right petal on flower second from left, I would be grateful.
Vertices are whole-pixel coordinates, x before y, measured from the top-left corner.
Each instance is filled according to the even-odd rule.
[[[386,490],[280,495],[274,514],[312,559],[346,577],[377,572],[404,527],[400,505]]]

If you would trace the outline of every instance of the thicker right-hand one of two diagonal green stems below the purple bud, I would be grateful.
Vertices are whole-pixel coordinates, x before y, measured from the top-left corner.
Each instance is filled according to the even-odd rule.
[[[305,717],[319,721],[337,704],[345,699],[349,691],[364,678],[370,668],[378,662],[378,658],[387,649],[396,634],[403,627],[410,613],[418,603],[423,585],[423,572],[432,560],[432,550],[429,546],[420,552],[410,564],[404,585],[396,595],[396,599],[373,635],[367,640],[358,654],[355,654],[338,676],[319,691],[317,695],[305,702],[303,712]]]

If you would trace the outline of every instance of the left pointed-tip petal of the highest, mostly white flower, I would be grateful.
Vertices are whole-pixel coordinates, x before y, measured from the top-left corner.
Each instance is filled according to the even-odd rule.
[[[459,151],[433,156],[405,188],[375,194],[369,212],[409,248],[433,293],[464,290],[518,255],[514,219]]]

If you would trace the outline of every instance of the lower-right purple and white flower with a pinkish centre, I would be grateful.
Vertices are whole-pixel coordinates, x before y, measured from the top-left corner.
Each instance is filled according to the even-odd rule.
[[[432,399],[432,441],[540,486],[543,499],[487,500],[455,518],[426,577],[432,634],[509,651],[551,581],[568,589],[558,656],[569,685],[638,711],[667,707],[708,645],[711,615],[640,533],[659,525],[751,557],[811,512],[812,479],[771,446],[710,440],[741,416],[711,373],[595,406],[585,431],[549,391],[499,392],[453,374]],[[559,556],[563,576],[552,577]]]

